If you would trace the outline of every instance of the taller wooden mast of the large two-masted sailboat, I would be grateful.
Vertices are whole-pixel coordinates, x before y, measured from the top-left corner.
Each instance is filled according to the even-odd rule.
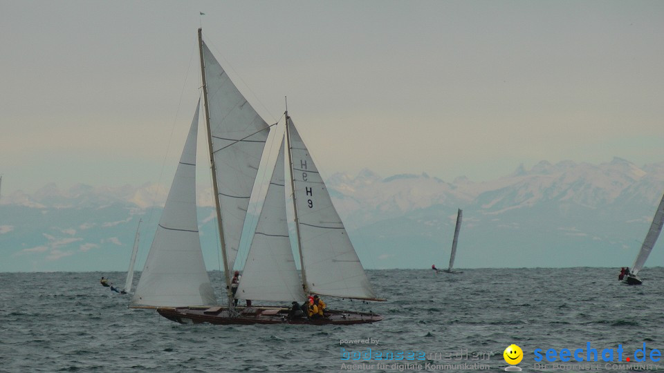
[[[212,129],[210,128],[210,108],[208,108],[208,81],[205,79],[205,59],[203,59],[203,29],[199,28],[199,52],[201,54],[201,78],[203,79],[203,104],[205,106],[205,128],[208,128],[208,150],[210,151],[210,169],[212,170],[212,189],[214,191],[214,207],[216,209],[216,222],[219,224],[219,240],[221,242],[221,256],[223,257],[223,274],[226,280],[226,294],[228,307],[233,305],[233,295],[230,291],[230,269],[226,258],[226,244],[223,238],[221,224],[221,208],[219,204],[219,187],[216,182],[216,167],[214,166],[214,149],[212,149]]]

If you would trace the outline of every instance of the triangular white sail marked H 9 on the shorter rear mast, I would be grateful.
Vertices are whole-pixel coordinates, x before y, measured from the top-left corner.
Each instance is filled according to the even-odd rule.
[[[291,171],[308,291],[375,299],[373,289],[325,184],[290,117]]]

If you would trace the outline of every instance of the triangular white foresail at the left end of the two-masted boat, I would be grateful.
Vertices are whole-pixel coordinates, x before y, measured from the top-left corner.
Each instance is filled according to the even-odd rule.
[[[200,102],[199,102],[200,106]],[[196,220],[196,128],[199,107],[185,142],[133,305],[214,305]]]

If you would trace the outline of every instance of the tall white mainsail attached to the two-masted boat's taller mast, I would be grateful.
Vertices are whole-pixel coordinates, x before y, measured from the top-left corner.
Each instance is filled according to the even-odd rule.
[[[269,126],[201,43],[224,251],[232,272]]]

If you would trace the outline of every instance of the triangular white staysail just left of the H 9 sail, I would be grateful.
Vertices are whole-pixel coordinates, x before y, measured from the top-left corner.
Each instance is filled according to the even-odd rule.
[[[288,237],[284,140],[235,297],[289,302],[304,299]]]

